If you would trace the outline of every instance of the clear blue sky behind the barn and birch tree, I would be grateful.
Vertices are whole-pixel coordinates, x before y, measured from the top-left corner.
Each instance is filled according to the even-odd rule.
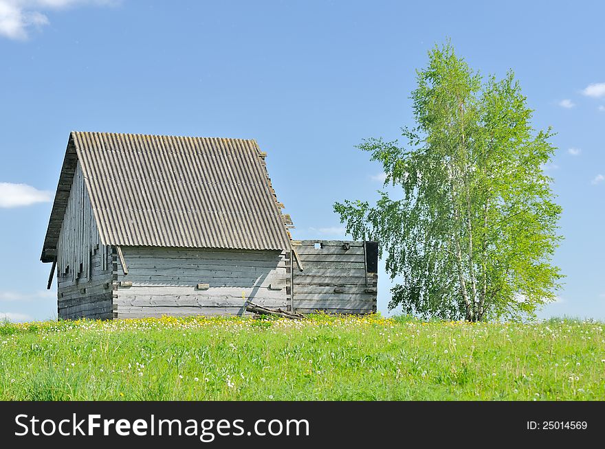
[[[295,238],[344,238],[332,204],[381,187],[353,146],[412,123],[415,69],[450,37],[482,73],[514,69],[535,126],[558,133],[566,279],[541,316],[605,319],[604,16],[598,1],[0,0],[0,316],[56,315],[39,257],[69,131],[256,139]]]

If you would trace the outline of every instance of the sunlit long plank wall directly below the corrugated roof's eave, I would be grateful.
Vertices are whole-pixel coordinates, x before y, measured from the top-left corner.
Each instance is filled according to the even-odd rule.
[[[122,253],[128,274],[118,260],[115,318],[241,315],[242,294],[271,308],[290,302],[285,252],[125,246]]]

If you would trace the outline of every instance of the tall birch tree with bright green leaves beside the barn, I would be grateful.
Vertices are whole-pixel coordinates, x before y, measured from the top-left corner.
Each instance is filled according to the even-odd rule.
[[[512,72],[484,80],[449,45],[429,52],[412,92],[416,126],[359,148],[382,163],[386,192],[335,211],[354,238],[377,240],[403,282],[390,308],[441,319],[533,316],[562,277],[551,264],[560,206],[542,170],[555,148],[536,132]]]

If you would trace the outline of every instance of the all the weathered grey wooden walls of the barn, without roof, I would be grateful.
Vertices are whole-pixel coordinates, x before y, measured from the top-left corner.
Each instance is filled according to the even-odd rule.
[[[100,242],[78,164],[57,246],[58,316],[242,315],[245,299],[303,313],[376,311],[377,274],[368,272],[364,242],[294,248],[303,270],[289,251],[124,246],[124,275],[115,247]]]

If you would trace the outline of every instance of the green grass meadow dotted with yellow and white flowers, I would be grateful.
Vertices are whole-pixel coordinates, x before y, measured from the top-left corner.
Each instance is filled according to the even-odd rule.
[[[0,325],[2,400],[605,400],[604,323]]]

